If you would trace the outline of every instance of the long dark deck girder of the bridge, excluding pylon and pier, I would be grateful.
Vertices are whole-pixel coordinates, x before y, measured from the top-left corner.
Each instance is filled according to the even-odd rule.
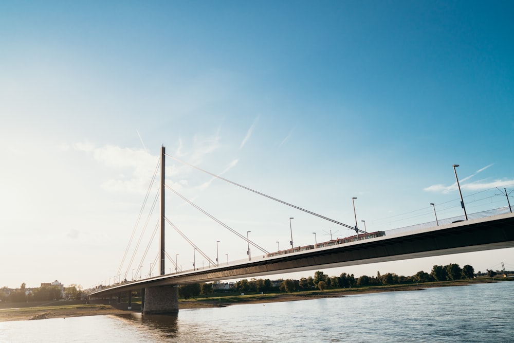
[[[505,214],[492,219],[419,230],[404,236],[386,236],[354,244],[341,244],[331,248],[249,261],[242,265],[203,269],[187,274],[163,275],[108,288],[91,296],[104,296],[120,290],[139,290],[143,287],[148,292],[149,287],[156,286],[230,280],[509,247],[514,247],[514,215]]]

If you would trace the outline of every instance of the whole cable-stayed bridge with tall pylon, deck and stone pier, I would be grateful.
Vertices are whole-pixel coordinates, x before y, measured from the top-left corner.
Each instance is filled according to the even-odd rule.
[[[162,149],[164,151],[164,148]],[[164,180],[163,173],[161,178]],[[161,196],[162,194],[163,192]],[[159,276],[102,288],[90,293],[89,297],[119,296],[121,292],[128,292],[128,303],[131,306],[132,291],[141,291],[143,313],[169,313],[178,311],[177,287],[182,284],[514,247],[512,208],[499,209],[489,214],[491,215],[482,217],[475,215],[478,217],[475,219],[470,214],[468,220],[456,220],[445,225],[439,225],[443,222],[439,221],[436,226],[389,230],[386,231],[385,236],[370,239],[359,239],[360,230],[351,227],[357,232],[357,240],[353,242],[303,251],[292,249],[287,254],[278,256],[265,254],[248,261],[232,262],[222,266],[213,263],[208,268],[194,268],[185,272],[165,274],[162,262]],[[161,218],[162,230],[166,220],[163,204]],[[364,234],[360,236],[360,238],[364,237]],[[164,254],[164,247],[161,246],[161,249]],[[164,255],[161,256],[163,261]]]

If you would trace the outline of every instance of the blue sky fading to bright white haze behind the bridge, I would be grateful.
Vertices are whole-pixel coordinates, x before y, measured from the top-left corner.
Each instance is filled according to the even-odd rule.
[[[295,245],[353,232],[171,157],[368,231],[433,221],[430,203],[439,219],[462,215],[454,164],[468,213],[507,206],[504,188],[514,205],[513,12],[508,1],[2,1],[0,287],[158,274],[161,146],[167,186],[268,251],[290,231]],[[245,239],[169,190],[165,208],[210,259],[216,245],[221,263],[247,258]],[[166,251],[182,269],[208,265],[169,224]],[[501,262],[514,268],[514,248],[324,272]]]

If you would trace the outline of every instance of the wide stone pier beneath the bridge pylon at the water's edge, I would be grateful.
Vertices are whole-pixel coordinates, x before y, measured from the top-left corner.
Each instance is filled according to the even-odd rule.
[[[146,287],[143,314],[170,312],[178,312],[178,287]]]

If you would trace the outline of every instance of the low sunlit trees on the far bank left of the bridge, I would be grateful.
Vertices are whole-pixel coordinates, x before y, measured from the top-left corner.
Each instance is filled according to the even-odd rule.
[[[64,294],[58,286],[26,288],[25,283],[22,283],[16,290],[10,290],[8,287],[0,288],[2,302],[52,301],[60,300],[63,296],[67,299],[79,300],[82,296],[82,287],[77,285],[65,287]]]

